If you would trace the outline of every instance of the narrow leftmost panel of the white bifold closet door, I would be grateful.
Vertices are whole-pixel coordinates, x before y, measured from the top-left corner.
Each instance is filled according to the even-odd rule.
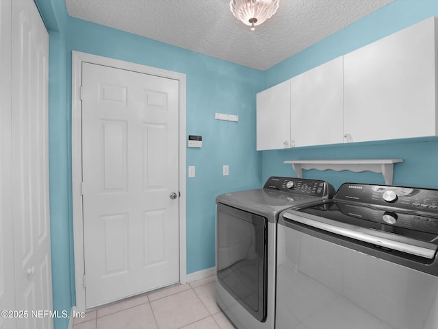
[[[0,1],[0,311],[14,310],[14,241],[11,199],[11,0]],[[0,329],[16,328],[0,317]]]

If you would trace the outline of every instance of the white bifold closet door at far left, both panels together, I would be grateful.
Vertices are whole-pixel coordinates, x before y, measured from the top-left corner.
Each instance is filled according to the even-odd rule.
[[[49,216],[49,35],[32,0],[0,1],[1,329],[53,328]],[[4,318],[6,315],[6,318]]]

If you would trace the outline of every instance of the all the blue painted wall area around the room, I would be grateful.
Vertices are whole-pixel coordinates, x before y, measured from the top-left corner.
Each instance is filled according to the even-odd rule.
[[[36,0],[49,29],[49,151],[53,306],[75,305],[71,197],[71,51],[136,62],[187,75],[187,134],[203,136],[201,149],[187,149],[188,273],[214,266],[216,195],[258,188],[269,175],[294,175],[284,160],[299,158],[402,158],[395,184],[438,188],[438,142],[434,138],[255,151],[255,93],[337,56],[438,16],[436,0],[396,0],[267,71],[203,56],[161,42],[73,19],[64,0]],[[239,122],[215,121],[214,112],[239,115]],[[222,164],[230,175],[222,176]],[[383,183],[374,173],[305,171],[305,177],[342,182]],[[55,319],[55,329],[67,328]]]

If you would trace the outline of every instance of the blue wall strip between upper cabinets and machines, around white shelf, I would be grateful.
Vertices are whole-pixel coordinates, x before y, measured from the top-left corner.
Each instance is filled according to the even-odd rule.
[[[296,177],[292,164],[285,160],[298,159],[403,159],[394,164],[394,185],[438,188],[437,138],[411,138],[403,141],[339,144],[329,147],[297,147],[263,151],[263,180],[271,175]],[[365,171],[303,170],[304,178],[326,180],[338,188],[344,182],[385,184],[383,175]]]

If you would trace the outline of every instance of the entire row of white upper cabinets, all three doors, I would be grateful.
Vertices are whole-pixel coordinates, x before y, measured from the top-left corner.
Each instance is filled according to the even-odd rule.
[[[257,94],[257,149],[438,136],[435,17]]]

